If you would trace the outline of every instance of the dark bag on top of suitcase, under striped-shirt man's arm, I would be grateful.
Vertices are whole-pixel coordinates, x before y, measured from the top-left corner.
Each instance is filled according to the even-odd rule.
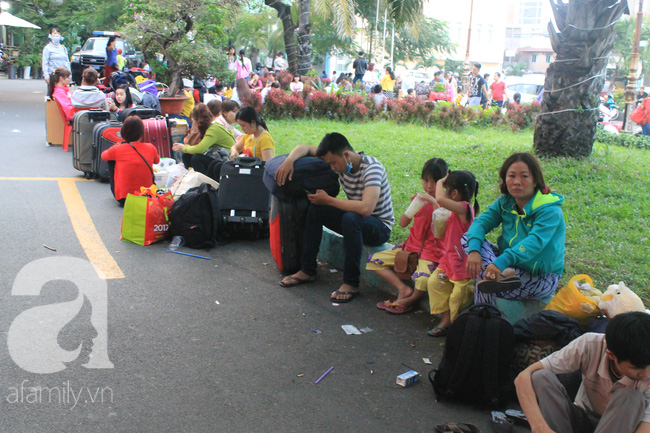
[[[330,168],[329,164],[314,156],[305,156],[293,164],[291,181],[279,186],[275,181],[275,173],[288,155],[278,155],[267,161],[264,167],[264,185],[281,200],[306,198],[306,191],[324,190],[332,197],[339,194],[339,175]]]

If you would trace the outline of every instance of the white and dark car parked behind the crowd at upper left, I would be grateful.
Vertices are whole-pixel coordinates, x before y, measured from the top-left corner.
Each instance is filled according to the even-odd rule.
[[[100,74],[103,72],[108,38],[109,36],[117,36],[114,32],[94,32],[93,35],[72,55],[70,60],[72,79],[77,84],[81,84],[81,73],[88,66],[97,69]],[[141,51],[136,51],[130,42],[118,36],[115,40],[115,48],[122,49],[122,55],[126,58],[127,66],[138,68],[142,66],[144,54]]]

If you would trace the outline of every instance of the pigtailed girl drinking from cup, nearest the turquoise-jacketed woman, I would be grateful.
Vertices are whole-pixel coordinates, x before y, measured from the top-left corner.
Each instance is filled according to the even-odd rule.
[[[474,279],[465,270],[467,254],[460,242],[479,212],[477,193],[478,181],[466,170],[452,171],[436,185],[438,205],[451,215],[446,223],[442,258],[427,284],[431,314],[442,315],[440,323],[427,332],[431,337],[446,335],[449,325],[474,300]],[[473,207],[469,204],[472,197]]]

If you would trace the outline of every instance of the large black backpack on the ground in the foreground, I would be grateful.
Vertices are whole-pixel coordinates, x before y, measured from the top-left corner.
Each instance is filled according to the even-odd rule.
[[[447,331],[442,361],[429,373],[434,392],[442,399],[502,406],[514,391],[514,341],[512,325],[496,307],[471,306]]]

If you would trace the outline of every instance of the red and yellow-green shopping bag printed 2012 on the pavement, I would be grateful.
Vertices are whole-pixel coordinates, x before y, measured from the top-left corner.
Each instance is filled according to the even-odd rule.
[[[127,195],[122,214],[122,240],[150,245],[165,239],[169,234],[169,213],[173,204],[171,192],[160,194],[156,185]]]

